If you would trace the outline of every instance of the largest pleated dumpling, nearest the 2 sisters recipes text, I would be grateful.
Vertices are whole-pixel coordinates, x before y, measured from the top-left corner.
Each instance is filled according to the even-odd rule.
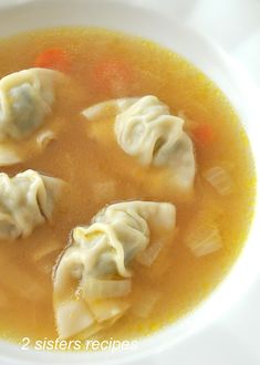
[[[125,313],[131,261],[153,244],[152,227],[153,240],[173,237],[175,216],[171,204],[126,201],[107,206],[90,226],[73,229],[54,274],[54,312],[62,338],[79,333],[87,337]]]

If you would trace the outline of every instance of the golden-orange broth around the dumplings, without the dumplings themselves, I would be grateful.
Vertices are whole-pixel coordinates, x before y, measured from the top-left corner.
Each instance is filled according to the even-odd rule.
[[[67,181],[67,190],[58,205],[51,225],[37,227],[25,239],[0,241],[0,336],[19,342],[29,336],[55,338],[52,304],[52,272],[59,253],[67,244],[73,227],[87,225],[106,204],[119,200],[171,201],[177,208],[177,233],[162,250],[150,268],[135,265],[131,300],[141,303],[149,295],[160,295],[150,315],[141,319],[132,311],[100,338],[135,338],[147,335],[193,310],[227,274],[247,237],[254,200],[254,171],[250,146],[239,119],[222,93],[195,66],[168,50],[142,39],[97,29],[55,29],[21,34],[0,42],[0,76],[33,66],[39,53],[61,48],[70,55],[70,76],[75,87],[62,91],[54,107],[59,119],[58,138],[42,154],[24,164],[2,168],[10,175],[35,169]],[[116,79],[110,86],[98,82],[96,64],[127,64],[125,83]],[[119,62],[119,63],[118,63]],[[212,143],[196,140],[197,176],[195,195],[189,201],[170,189],[156,186],[158,174],[143,169],[116,144],[111,121],[92,134],[92,126],[81,112],[97,102],[115,97],[156,95],[171,113],[184,112],[195,123],[209,123]],[[63,107],[65,105],[65,107]],[[59,111],[62,109],[62,115]],[[59,114],[59,115],[58,115]],[[50,124],[51,125],[51,124]],[[189,125],[187,124],[187,131]],[[227,166],[233,180],[232,194],[220,197],[202,179],[201,171]],[[150,182],[153,181],[153,182]],[[156,189],[153,189],[155,184]],[[218,225],[223,247],[196,258],[184,243],[187,225],[200,205],[208,215],[219,211]],[[40,261],[35,258],[45,246],[58,250]],[[40,253],[39,253],[40,252]],[[15,290],[28,290],[32,278],[44,291],[42,299],[23,299]],[[25,280],[25,281],[24,281]],[[15,285],[14,285],[15,283]],[[34,293],[34,291],[33,291]],[[153,294],[150,294],[153,293]]]

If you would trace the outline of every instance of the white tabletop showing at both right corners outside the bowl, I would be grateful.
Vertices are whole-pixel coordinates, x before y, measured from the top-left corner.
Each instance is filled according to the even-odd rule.
[[[48,1],[48,0],[46,0]],[[73,2],[73,0],[71,0]],[[0,1],[0,3],[22,1]],[[191,24],[240,60],[260,85],[260,1],[257,0],[128,0],[166,12]],[[174,348],[147,358],[147,364],[259,365],[260,279],[215,324]],[[3,364],[3,363],[2,363]]]

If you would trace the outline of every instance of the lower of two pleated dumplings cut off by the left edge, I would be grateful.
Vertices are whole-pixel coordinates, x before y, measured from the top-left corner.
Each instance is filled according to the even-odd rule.
[[[27,170],[10,178],[0,174],[0,238],[29,236],[50,220],[63,181]]]

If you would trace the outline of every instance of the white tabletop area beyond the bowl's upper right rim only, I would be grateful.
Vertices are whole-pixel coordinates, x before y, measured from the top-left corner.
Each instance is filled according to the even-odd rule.
[[[260,0],[143,0],[143,3],[211,36],[260,85]]]

